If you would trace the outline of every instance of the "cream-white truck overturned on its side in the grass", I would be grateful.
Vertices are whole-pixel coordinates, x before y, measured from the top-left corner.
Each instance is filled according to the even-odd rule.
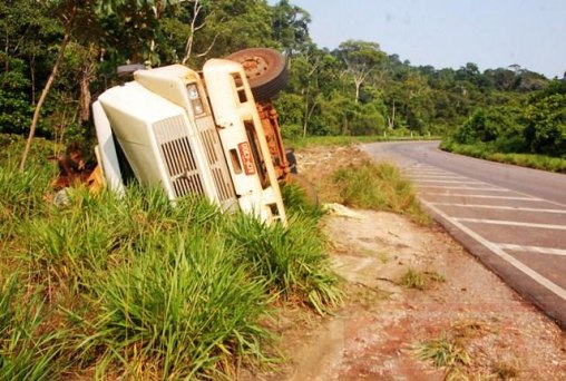
[[[284,57],[247,49],[208,60],[134,71],[92,105],[97,156],[115,192],[136,179],[169,199],[206,196],[266,223],[286,223],[279,183],[294,164],[271,98],[285,84]]]

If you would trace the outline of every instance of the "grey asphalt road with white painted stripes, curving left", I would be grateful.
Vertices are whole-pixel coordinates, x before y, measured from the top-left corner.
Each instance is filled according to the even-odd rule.
[[[452,236],[566,328],[566,175],[445,153],[438,141],[364,149],[397,163]]]

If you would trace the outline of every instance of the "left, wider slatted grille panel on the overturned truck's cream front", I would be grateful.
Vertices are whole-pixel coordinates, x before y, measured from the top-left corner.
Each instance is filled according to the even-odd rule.
[[[153,127],[175,197],[182,197],[188,193],[204,194],[203,180],[183,117],[163,119],[155,123]]]

